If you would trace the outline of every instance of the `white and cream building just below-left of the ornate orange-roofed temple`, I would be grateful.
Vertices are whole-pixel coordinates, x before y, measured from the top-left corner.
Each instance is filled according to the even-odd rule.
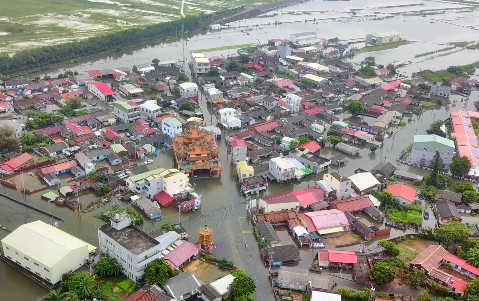
[[[177,169],[157,168],[126,179],[130,191],[135,194],[146,194],[149,198],[165,191],[169,195],[190,191],[189,177]]]

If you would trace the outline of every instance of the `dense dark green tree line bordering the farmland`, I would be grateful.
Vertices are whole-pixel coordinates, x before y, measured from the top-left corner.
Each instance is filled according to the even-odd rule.
[[[204,18],[204,14],[187,16],[171,22],[149,25],[143,28],[126,29],[82,41],[26,49],[17,52],[11,57],[8,55],[1,56],[0,70],[4,74],[11,74],[95,53],[118,50],[121,47],[142,43],[151,39],[171,39],[181,32],[182,25],[184,25],[185,32],[190,33],[201,28]]]

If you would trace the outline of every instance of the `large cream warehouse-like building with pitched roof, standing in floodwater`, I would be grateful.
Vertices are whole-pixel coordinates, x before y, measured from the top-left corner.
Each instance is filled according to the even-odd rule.
[[[95,247],[42,221],[23,224],[2,239],[5,257],[56,284],[87,262]]]

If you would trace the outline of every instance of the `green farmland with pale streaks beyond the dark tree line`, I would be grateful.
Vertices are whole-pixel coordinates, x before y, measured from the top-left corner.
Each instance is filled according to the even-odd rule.
[[[0,53],[277,0],[0,0]]]

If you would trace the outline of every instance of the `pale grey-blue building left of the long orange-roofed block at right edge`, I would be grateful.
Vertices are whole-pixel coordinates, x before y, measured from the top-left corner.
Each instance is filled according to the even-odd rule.
[[[436,151],[441,156],[443,168],[449,169],[456,154],[454,141],[438,135],[415,135],[410,162],[419,166],[430,166]]]

